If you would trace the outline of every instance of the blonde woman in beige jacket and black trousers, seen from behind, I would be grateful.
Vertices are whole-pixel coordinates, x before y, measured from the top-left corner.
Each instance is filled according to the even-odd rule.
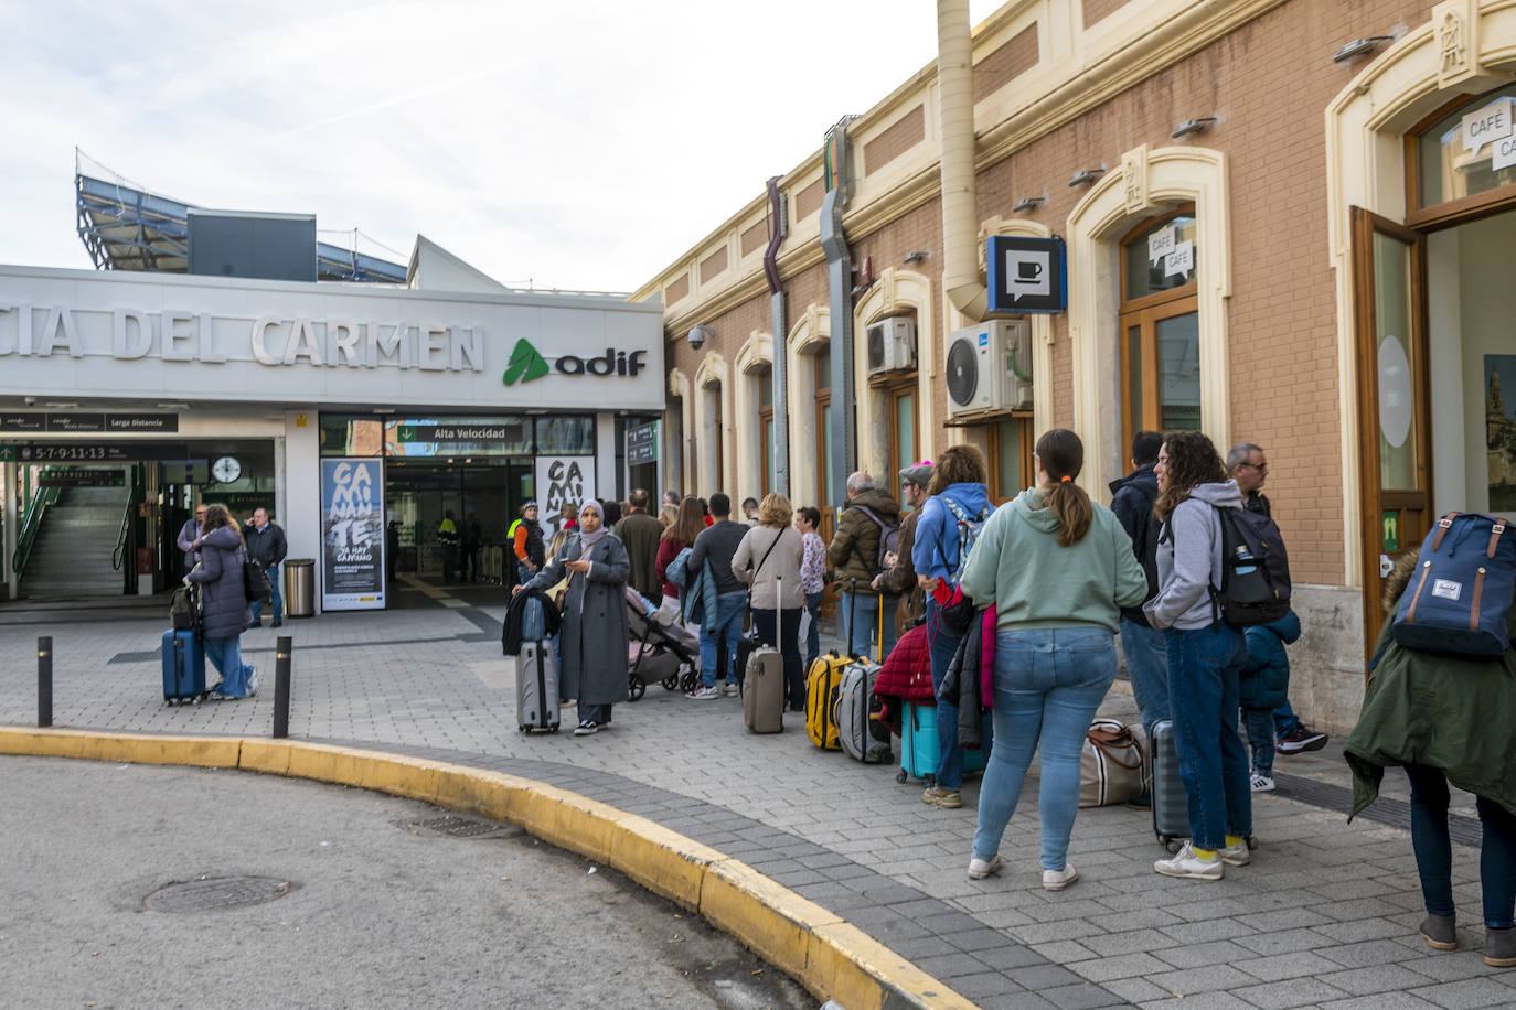
[[[732,554],[732,574],[752,586],[750,606],[758,637],[784,657],[790,712],[805,712],[805,669],[800,663],[800,613],[805,610],[800,559],[805,541],[790,524],[793,513],[794,507],[784,495],[764,495],[758,506],[758,525],[747,531]]]

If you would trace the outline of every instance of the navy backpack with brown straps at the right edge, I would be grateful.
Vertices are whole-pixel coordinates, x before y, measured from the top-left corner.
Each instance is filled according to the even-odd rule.
[[[1478,512],[1437,519],[1395,612],[1392,634],[1399,645],[1458,656],[1499,656],[1510,648],[1516,536],[1505,536],[1507,525]]]

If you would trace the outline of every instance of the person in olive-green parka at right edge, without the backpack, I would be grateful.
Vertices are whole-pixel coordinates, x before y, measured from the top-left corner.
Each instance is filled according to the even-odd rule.
[[[1458,946],[1452,904],[1448,783],[1477,798],[1483,839],[1484,963],[1516,966],[1516,648],[1499,659],[1405,648],[1392,637],[1395,610],[1417,551],[1384,584],[1384,630],[1358,725],[1345,757],[1352,768],[1351,821],[1380,795],[1384,769],[1402,766],[1411,786],[1411,848],[1427,918],[1420,934],[1439,951]],[[1516,628],[1516,607],[1511,609]]]

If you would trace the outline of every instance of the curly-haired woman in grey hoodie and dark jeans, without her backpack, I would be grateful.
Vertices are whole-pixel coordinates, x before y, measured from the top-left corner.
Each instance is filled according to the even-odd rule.
[[[1223,863],[1246,866],[1252,834],[1248,748],[1237,733],[1248,644],[1220,619],[1211,586],[1222,584],[1220,509],[1242,509],[1216,447],[1199,432],[1176,432],[1158,450],[1158,595],[1143,604],[1169,647],[1173,748],[1190,812],[1190,840],[1154,871],[1220,880]]]

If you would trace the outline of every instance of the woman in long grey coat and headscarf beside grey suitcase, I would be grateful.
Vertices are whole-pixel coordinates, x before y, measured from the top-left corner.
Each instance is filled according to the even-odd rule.
[[[575,736],[597,733],[611,721],[611,706],[626,701],[626,577],[632,565],[626,547],[605,527],[605,509],[588,500],[579,506],[579,530],[525,586],[543,589],[568,578],[559,631],[564,698],[579,700]]]

